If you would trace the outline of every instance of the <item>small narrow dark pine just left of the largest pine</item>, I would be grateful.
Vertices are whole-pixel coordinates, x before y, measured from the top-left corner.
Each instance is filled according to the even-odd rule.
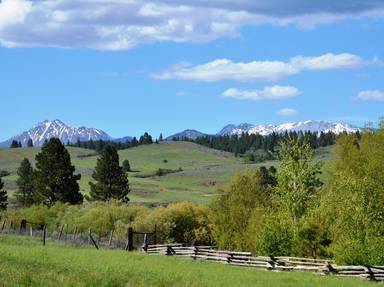
[[[16,199],[23,206],[34,203],[33,168],[28,159],[24,158],[17,170],[19,178],[16,183],[19,187],[16,191]]]

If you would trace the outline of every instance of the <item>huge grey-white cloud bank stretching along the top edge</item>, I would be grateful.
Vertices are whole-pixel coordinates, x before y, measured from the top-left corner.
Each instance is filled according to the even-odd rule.
[[[311,27],[343,19],[384,17],[383,1],[336,2],[2,0],[0,43],[125,50],[159,41],[207,42],[233,37],[244,25]]]

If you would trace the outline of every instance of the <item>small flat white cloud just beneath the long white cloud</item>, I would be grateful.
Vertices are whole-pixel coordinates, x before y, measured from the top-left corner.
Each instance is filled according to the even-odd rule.
[[[262,90],[239,90],[228,89],[223,92],[222,96],[237,100],[282,100],[295,97],[300,94],[299,89],[291,86],[272,86],[265,87]]]

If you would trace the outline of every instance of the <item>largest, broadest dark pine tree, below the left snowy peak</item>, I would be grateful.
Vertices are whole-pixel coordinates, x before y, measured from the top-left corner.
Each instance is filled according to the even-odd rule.
[[[50,139],[36,155],[35,194],[37,202],[52,205],[56,201],[83,202],[71,157],[57,138]]]

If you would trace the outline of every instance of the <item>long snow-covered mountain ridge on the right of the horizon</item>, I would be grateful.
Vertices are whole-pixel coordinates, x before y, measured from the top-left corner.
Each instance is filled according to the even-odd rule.
[[[283,133],[283,132],[333,132],[335,134],[339,133],[355,133],[360,129],[349,124],[342,124],[329,121],[304,121],[304,122],[293,122],[293,123],[284,123],[280,125],[252,125],[252,124],[240,124],[240,125],[227,125],[225,126],[218,135],[241,135],[243,132],[249,134],[260,134],[260,135],[269,135],[273,132]]]

